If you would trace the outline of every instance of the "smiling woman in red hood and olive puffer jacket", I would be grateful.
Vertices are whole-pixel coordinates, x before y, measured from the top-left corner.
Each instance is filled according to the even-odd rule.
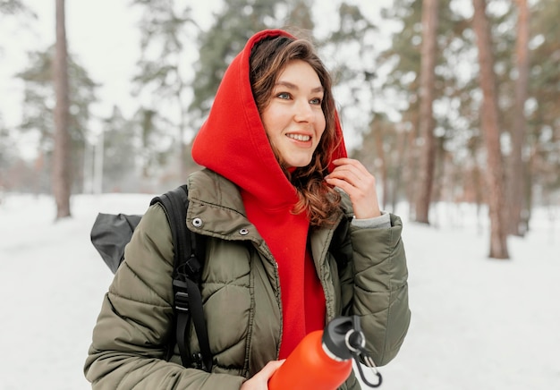
[[[163,359],[173,248],[155,205],[103,302],[85,367],[93,387],[267,389],[301,339],[342,314],[361,316],[378,365],[392,360],[410,321],[401,220],[380,212],[375,179],[346,157],[310,44],[282,30],[250,38],[192,157],[206,167],[187,182],[187,225],[208,236],[200,291],[212,372]],[[196,337],[189,347],[199,351]],[[352,375],[342,388],[360,386]]]

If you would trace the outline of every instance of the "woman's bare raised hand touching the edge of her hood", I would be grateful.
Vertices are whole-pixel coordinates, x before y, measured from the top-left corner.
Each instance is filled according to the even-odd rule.
[[[358,219],[380,216],[376,179],[366,167],[352,158],[338,158],[333,164],[336,167],[325,180],[350,196],[354,216]]]

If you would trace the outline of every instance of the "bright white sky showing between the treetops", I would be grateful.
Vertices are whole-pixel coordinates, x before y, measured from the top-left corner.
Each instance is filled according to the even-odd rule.
[[[140,13],[129,6],[129,1],[115,0],[66,0],[66,32],[69,50],[77,58],[93,81],[101,84],[98,89],[100,102],[92,106],[93,114],[108,116],[113,106],[120,106],[124,114],[132,114],[138,108],[131,97],[130,80],[135,64],[140,58],[140,34],[136,25]],[[318,18],[318,34],[332,29],[336,3],[317,1],[314,9],[325,17]],[[362,13],[378,20],[381,6],[392,0],[353,0]],[[0,114],[7,126],[21,122],[22,84],[13,74],[27,68],[27,53],[44,50],[55,41],[55,1],[26,0],[25,4],[38,14],[37,21],[27,26],[13,17],[0,23]],[[191,2],[197,21],[208,27],[211,14],[218,10],[220,0]],[[95,131],[96,124],[92,123]],[[29,140],[30,145],[33,141]],[[28,148],[33,153],[35,148]],[[24,151],[25,152],[25,151]]]

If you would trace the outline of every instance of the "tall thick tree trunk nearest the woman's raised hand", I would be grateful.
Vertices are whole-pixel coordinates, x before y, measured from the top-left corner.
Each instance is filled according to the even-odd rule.
[[[437,60],[437,0],[422,1],[422,47],[420,69],[420,172],[416,195],[416,222],[428,224],[429,203],[436,164],[434,139],[434,85]]]

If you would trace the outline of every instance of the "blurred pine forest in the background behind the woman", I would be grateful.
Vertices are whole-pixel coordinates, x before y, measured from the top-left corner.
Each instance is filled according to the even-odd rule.
[[[0,1],[0,64],[39,22],[34,3]],[[72,2],[50,3],[53,41],[6,76],[19,94],[0,104],[0,201],[50,194],[61,219],[76,194],[182,183],[199,169],[190,143],[228,62],[255,31],[285,28],[313,39],[333,72],[349,152],[376,175],[386,210],[405,202],[433,225],[438,203],[476,205],[488,210],[488,257],[509,259],[507,237],[560,204],[557,0],[222,0],[206,23],[189,1],[132,0],[132,109],[105,115],[92,107],[112,81],[75,55]]]

